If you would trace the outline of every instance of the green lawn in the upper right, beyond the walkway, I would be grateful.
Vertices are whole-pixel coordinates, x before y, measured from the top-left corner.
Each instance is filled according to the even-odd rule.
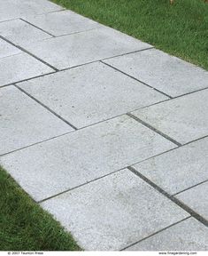
[[[53,2],[208,69],[208,4],[203,0]]]

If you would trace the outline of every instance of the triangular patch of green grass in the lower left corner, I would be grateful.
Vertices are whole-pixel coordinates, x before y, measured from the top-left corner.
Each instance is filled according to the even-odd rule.
[[[58,221],[27,196],[0,167],[0,250],[80,250]]]

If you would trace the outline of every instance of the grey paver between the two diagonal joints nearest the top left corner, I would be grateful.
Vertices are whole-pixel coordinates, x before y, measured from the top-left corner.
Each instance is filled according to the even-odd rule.
[[[23,20],[0,22],[0,35],[13,44],[28,44],[52,37]]]

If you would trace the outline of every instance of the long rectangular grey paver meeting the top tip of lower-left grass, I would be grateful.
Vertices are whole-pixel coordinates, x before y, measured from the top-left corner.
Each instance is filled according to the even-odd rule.
[[[174,147],[124,115],[3,156],[0,162],[40,201]]]

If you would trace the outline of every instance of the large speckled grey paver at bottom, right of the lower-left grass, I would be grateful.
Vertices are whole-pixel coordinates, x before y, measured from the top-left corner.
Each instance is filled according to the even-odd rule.
[[[42,203],[85,250],[120,250],[189,216],[127,169]]]

